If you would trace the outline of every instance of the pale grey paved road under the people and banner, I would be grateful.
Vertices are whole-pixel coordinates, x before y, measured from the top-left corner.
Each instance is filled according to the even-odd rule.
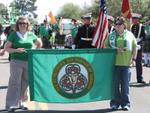
[[[5,111],[5,97],[9,78],[9,63],[7,54],[0,56],[0,113]],[[28,102],[29,111],[16,110],[17,113],[149,113],[150,112],[150,68],[144,67],[144,80],[146,85],[137,84],[135,79],[135,68],[132,68],[130,83],[130,111],[111,111],[109,101],[81,103],[81,104],[46,104]]]

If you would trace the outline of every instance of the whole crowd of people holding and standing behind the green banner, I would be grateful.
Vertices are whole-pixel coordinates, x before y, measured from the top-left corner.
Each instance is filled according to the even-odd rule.
[[[28,109],[25,104],[28,99],[26,49],[32,49],[35,46],[55,49],[56,45],[68,49],[95,48],[92,46],[95,26],[91,21],[91,14],[83,15],[81,19],[82,24],[77,24],[76,19],[71,20],[72,28],[69,38],[62,33],[60,20],[54,25],[44,20],[40,26],[35,25],[31,29],[28,18],[22,16],[18,18],[15,25],[10,25],[4,30],[7,39],[1,47],[0,55],[4,55],[5,51],[10,54],[10,78],[6,96],[6,109],[9,112],[14,111],[16,107]],[[122,16],[117,18],[108,16],[108,21],[109,36],[105,41],[105,48],[117,49],[114,71],[115,96],[110,101],[110,107],[118,110],[121,106],[123,110],[129,110],[131,63],[135,62],[137,83],[142,84],[145,84],[142,63],[144,66],[150,66],[150,18],[145,24],[141,24],[140,17],[132,15],[131,29],[127,29],[127,22]],[[1,32],[3,32],[2,26],[0,26]]]

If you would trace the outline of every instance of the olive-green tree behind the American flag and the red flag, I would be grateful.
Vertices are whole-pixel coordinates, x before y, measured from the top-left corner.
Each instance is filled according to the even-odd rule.
[[[122,0],[106,0],[106,5],[109,15],[114,17],[121,15]],[[94,18],[98,17],[99,6],[99,0],[94,0],[90,7]],[[130,6],[132,12],[139,13],[142,16],[149,16],[150,0],[130,0]]]

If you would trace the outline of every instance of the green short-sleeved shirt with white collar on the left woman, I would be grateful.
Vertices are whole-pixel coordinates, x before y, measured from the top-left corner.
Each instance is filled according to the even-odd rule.
[[[32,32],[27,32],[27,38],[22,39],[20,38],[16,32],[12,32],[9,37],[8,41],[12,43],[12,48],[25,48],[25,49],[31,49],[33,47],[33,43],[36,41],[37,36]],[[11,59],[15,60],[28,60],[28,55],[26,52],[24,53],[11,53]]]

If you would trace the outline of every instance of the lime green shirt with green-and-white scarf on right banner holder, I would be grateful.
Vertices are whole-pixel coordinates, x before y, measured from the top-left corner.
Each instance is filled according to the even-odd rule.
[[[111,45],[112,43],[112,45]],[[117,52],[116,54],[116,66],[130,66],[133,48],[136,48],[137,43],[134,35],[125,30],[122,36],[119,36],[117,32],[112,32],[105,41],[106,47],[111,48],[123,48],[123,52]]]

